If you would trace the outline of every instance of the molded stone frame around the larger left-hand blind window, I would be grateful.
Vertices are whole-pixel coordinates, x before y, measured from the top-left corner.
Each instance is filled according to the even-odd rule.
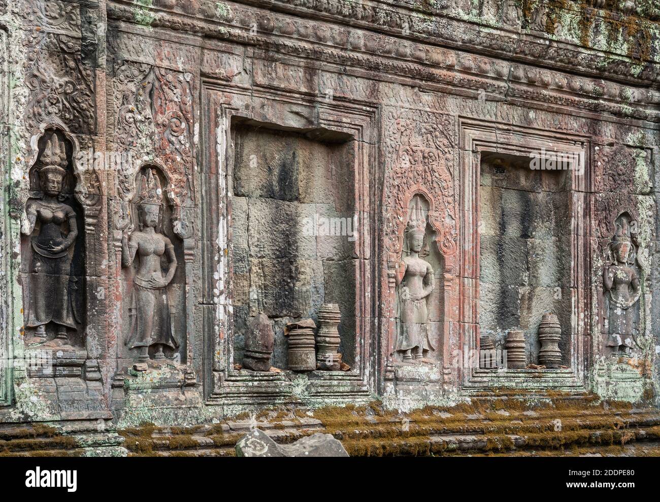
[[[267,87],[267,85],[264,85]],[[372,195],[372,173],[376,169],[374,123],[376,109],[345,100],[326,100],[325,96],[304,91],[282,92],[277,88],[240,88],[216,78],[204,79],[202,117],[203,139],[201,192],[202,226],[215,232],[212,242],[203,241],[201,262],[203,278],[201,325],[205,338],[204,382],[208,404],[261,404],[295,402],[304,398],[368,398],[372,389],[372,294],[373,239],[372,218],[376,214]],[[352,137],[356,186],[355,211],[360,237],[356,241],[355,362],[350,371],[312,371],[302,396],[294,394],[294,384],[282,373],[237,371],[233,367],[232,322],[232,209],[230,195],[234,165],[232,119],[277,124],[281,129],[314,131],[324,129]],[[215,200],[214,200],[215,199]],[[219,226],[209,226],[209,210],[216,210]],[[215,271],[216,277],[213,277]],[[213,295],[213,290],[216,294]],[[219,292],[219,294],[218,294]],[[215,298],[212,298],[215,296]]]

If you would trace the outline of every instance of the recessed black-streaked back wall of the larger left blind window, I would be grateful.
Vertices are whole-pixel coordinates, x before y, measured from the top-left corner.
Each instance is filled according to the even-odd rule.
[[[354,156],[352,137],[292,131],[239,119],[231,186],[234,361],[243,358],[249,318],[273,323],[271,363],[287,367],[284,327],[337,303],[343,361],[355,357]]]

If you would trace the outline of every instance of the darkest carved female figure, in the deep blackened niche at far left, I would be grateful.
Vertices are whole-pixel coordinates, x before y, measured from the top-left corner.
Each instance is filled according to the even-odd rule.
[[[26,222],[21,232],[30,235],[32,273],[26,327],[36,328],[28,344],[46,342],[46,325],[53,323],[56,338],[48,344],[67,344],[67,329],[76,329],[73,315],[71,256],[78,228],[76,213],[63,203],[63,183],[67,166],[64,144],[56,134],[51,135],[39,160],[38,175],[42,196],[28,200]],[[36,226],[39,231],[36,233]]]

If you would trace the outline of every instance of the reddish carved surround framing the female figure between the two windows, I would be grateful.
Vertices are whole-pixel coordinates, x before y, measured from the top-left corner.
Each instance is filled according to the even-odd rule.
[[[399,390],[441,393],[452,385],[450,340],[455,332],[457,288],[457,166],[455,117],[446,113],[401,109],[383,114],[389,130],[383,141],[387,168],[383,186],[383,239],[380,257],[380,365],[378,383],[383,395]],[[419,128],[417,127],[419,126]],[[412,156],[402,162],[403,156]],[[396,339],[395,295],[391,276],[401,259],[409,203],[419,194],[429,203],[428,222],[436,232],[433,245],[442,257],[436,293],[442,294],[441,332],[436,364],[397,365],[391,348]],[[403,396],[405,398],[405,396]]]

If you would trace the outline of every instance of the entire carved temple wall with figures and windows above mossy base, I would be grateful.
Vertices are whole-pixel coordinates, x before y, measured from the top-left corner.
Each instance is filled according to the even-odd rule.
[[[0,65],[0,423],[660,403],[654,1],[4,0]]]

